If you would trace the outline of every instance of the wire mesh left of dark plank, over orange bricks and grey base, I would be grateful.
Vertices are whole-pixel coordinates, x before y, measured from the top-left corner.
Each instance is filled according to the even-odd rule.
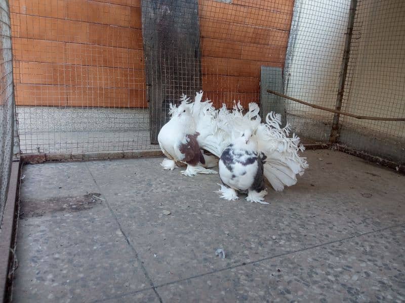
[[[155,149],[140,1],[11,5],[23,153]]]

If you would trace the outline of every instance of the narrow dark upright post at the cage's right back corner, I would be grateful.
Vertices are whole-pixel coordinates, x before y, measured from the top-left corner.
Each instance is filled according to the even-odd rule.
[[[350,9],[349,9],[349,19],[347,21],[345,48],[344,48],[344,52],[343,52],[342,66],[341,66],[340,75],[339,75],[339,89],[338,89],[338,95],[336,98],[336,106],[335,106],[335,109],[338,112],[342,108],[342,99],[343,99],[343,93],[345,90],[347,66],[349,64],[350,44],[351,44],[351,37],[352,37],[352,33],[353,33],[354,17],[356,15],[356,7],[357,7],[357,0],[351,0]],[[335,113],[335,115],[333,117],[331,136],[329,137],[330,143],[336,143],[338,141],[339,118],[340,118],[340,114]]]

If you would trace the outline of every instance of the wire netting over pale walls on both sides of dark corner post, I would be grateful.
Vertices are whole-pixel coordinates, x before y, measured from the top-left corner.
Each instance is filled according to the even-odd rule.
[[[352,16],[350,11],[354,12]],[[349,114],[404,118],[403,16],[405,3],[400,0],[297,0],[284,87],[274,80],[268,86],[311,105]],[[343,92],[342,97],[339,92]],[[334,113],[271,94],[265,95],[265,100],[269,108],[285,110],[288,121],[302,137],[333,140]],[[358,120],[344,115],[337,118],[337,140],[333,142],[405,162],[403,121]]]

